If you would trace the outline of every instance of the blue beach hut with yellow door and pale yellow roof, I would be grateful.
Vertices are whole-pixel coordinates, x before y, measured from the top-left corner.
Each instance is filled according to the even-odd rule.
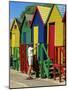
[[[49,77],[49,66],[46,66],[49,63],[49,58],[47,55],[47,21],[49,19],[52,6],[36,6],[36,10],[33,16],[31,24],[31,33],[32,33],[32,42],[35,48],[35,44],[39,43],[38,49],[34,50],[34,60],[38,59],[38,63],[41,67],[41,77],[44,77],[45,74]]]

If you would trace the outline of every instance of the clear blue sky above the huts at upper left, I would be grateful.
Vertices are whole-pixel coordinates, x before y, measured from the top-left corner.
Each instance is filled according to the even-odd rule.
[[[31,6],[33,5],[33,3],[28,3],[28,2],[13,2],[10,1],[10,5],[9,5],[9,12],[10,12],[10,22],[14,19],[14,18],[18,18],[21,13],[25,10],[25,8],[27,6]]]

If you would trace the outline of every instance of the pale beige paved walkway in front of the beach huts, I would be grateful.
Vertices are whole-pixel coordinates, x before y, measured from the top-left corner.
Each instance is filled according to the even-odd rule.
[[[26,80],[27,75],[21,72],[10,70],[10,88],[24,88],[24,87],[37,87],[37,86],[53,86],[65,85],[65,82],[59,83],[58,80],[35,78]]]

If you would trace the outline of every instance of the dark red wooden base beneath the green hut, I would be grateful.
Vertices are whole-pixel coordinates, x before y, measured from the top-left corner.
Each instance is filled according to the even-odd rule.
[[[21,72],[27,73],[28,62],[26,56],[26,45],[20,45],[20,70]]]

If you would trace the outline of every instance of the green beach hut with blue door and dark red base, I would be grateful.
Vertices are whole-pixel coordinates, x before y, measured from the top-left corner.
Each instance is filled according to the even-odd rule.
[[[31,44],[31,21],[33,15],[25,14],[20,32],[20,70],[24,73],[28,71],[27,45]]]

